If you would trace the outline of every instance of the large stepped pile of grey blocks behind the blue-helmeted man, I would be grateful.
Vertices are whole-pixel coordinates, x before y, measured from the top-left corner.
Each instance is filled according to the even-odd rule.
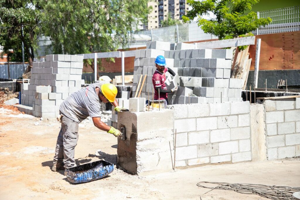
[[[195,49],[194,44],[185,43],[178,43],[176,50],[171,49],[170,44],[166,42],[152,41],[147,43],[147,49],[136,50],[133,95],[139,92],[137,85],[141,75],[147,75],[140,97],[147,99],[148,91],[152,96],[155,58],[163,55],[167,67],[179,74],[180,82],[178,91],[168,94],[169,104],[242,100],[242,80],[230,78],[232,50]],[[170,76],[168,72],[166,75]],[[174,87],[172,82],[168,82],[168,77],[165,83],[168,89]]]

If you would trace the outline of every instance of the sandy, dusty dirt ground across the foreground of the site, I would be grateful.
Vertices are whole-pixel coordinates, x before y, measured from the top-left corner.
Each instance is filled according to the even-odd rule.
[[[36,124],[36,125],[35,125]],[[0,199],[200,199],[209,189],[199,181],[300,186],[300,159],[206,165],[138,177],[115,169],[109,176],[71,184],[53,172],[60,130],[57,121],[40,120],[0,108]],[[84,123],[75,149],[77,164],[105,159],[116,164],[117,139]],[[208,199],[266,199],[253,194],[213,190]]]

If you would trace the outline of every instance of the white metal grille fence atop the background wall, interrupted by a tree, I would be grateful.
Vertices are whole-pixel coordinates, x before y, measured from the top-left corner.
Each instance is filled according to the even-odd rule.
[[[291,32],[300,30],[299,6],[257,12],[258,18],[270,17],[271,24],[253,31],[255,35]],[[166,26],[162,28],[128,32],[128,48],[145,47],[148,41],[170,43],[217,39],[217,36],[204,33],[197,22]]]

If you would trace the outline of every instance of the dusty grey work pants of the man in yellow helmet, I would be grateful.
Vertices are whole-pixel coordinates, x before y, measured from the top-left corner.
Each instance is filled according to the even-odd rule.
[[[64,168],[75,167],[75,147],[78,141],[79,123],[65,116],[61,117],[61,129],[57,137],[53,165],[57,162],[64,162]]]

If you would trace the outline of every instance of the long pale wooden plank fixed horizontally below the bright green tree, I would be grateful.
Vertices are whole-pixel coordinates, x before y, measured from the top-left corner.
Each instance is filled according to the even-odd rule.
[[[218,49],[255,44],[255,36],[196,43],[197,49]]]

